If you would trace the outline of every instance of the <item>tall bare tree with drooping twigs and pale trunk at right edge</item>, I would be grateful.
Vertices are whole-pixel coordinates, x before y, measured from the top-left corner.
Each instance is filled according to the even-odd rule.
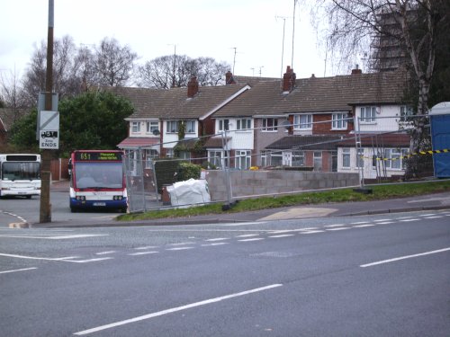
[[[367,52],[374,34],[405,46],[412,75],[417,79],[417,114],[425,116],[435,67],[436,35],[439,26],[449,19],[448,0],[323,0],[321,4],[329,16],[329,48],[338,49],[344,58]],[[387,25],[386,18],[395,24]],[[419,150],[424,121],[417,121],[413,152]]]

